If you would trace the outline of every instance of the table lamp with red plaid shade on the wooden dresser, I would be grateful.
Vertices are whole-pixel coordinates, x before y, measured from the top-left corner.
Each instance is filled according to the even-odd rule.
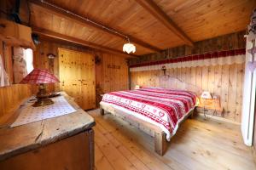
[[[46,92],[46,83],[60,82],[49,71],[44,69],[34,69],[26,77],[21,80],[21,84],[39,84],[39,91],[37,94],[37,101],[32,105],[34,107],[43,105],[52,105],[54,102],[49,99],[49,94]]]

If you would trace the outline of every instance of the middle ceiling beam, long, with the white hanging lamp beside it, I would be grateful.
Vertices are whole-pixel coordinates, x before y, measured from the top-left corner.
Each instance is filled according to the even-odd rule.
[[[121,34],[129,37],[131,42],[134,42],[137,45],[142,46],[143,48],[148,48],[157,53],[159,53],[161,51],[160,48],[154,47],[153,45],[148,44],[148,42],[143,42],[142,40],[138,39],[137,37],[132,37],[131,35],[125,34],[121,31],[117,31],[109,26],[105,26],[106,28],[113,30],[113,31],[109,31],[108,29],[103,28],[102,26],[104,26],[104,25],[98,21],[92,20],[93,22],[89,22],[89,21],[83,20],[79,16],[75,16],[73,14],[67,13],[59,8],[54,8],[47,3],[42,3],[41,1],[29,0],[29,3],[31,5],[37,6],[38,8],[44,9],[44,11],[47,11],[50,14],[55,14],[57,16],[60,16],[61,18],[65,18],[67,20],[73,20],[74,22],[77,22],[82,26],[90,26],[90,27],[96,28],[97,30],[108,33],[109,35],[112,35],[114,37],[120,37],[122,39],[125,39],[124,36],[122,36],[118,33],[118,32],[120,32]],[[99,26],[99,25],[101,25],[101,26]]]

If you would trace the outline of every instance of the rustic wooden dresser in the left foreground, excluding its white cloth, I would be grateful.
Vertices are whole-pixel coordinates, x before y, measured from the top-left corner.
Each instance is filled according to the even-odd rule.
[[[1,170],[94,169],[94,132],[91,127],[95,121],[72,98],[62,94],[77,111],[0,129]],[[20,110],[22,107],[15,114]]]

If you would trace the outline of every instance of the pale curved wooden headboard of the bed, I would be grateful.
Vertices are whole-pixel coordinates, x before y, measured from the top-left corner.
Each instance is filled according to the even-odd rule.
[[[160,88],[174,88],[174,89],[180,89],[180,90],[188,90],[188,91],[194,92],[197,96],[200,96],[203,91],[201,88],[193,84],[183,82],[182,80],[176,77],[170,77],[166,75],[166,76],[160,76],[158,78],[160,81],[159,82]]]

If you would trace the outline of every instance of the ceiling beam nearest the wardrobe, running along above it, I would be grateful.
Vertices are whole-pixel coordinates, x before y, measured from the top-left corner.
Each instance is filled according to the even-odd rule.
[[[55,39],[60,39],[60,40],[64,40],[67,42],[73,42],[82,46],[86,46],[86,47],[90,47],[90,48],[96,48],[99,51],[103,51],[103,52],[108,52],[111,54],[118,54],[118,55],[125,55],[126,57],[137,57],[137,55],[134,54],[125,54],[123,51],[117,50],[117,49],[113,49],[113,48],[108,48],[102,45],[98,45],[96,43],[93,42],[87,42],[84,40],[81,40],[79,38],[76,37],[69,37],[63,34],[60,34],[58,32],[54,32],[54,31],[49,31],[49,30],[45,30],[42,28],[38,28],[38,27],[32,27],[32,32],[38,34],[38,35],[43,35],[45,37],[53,37]]]

